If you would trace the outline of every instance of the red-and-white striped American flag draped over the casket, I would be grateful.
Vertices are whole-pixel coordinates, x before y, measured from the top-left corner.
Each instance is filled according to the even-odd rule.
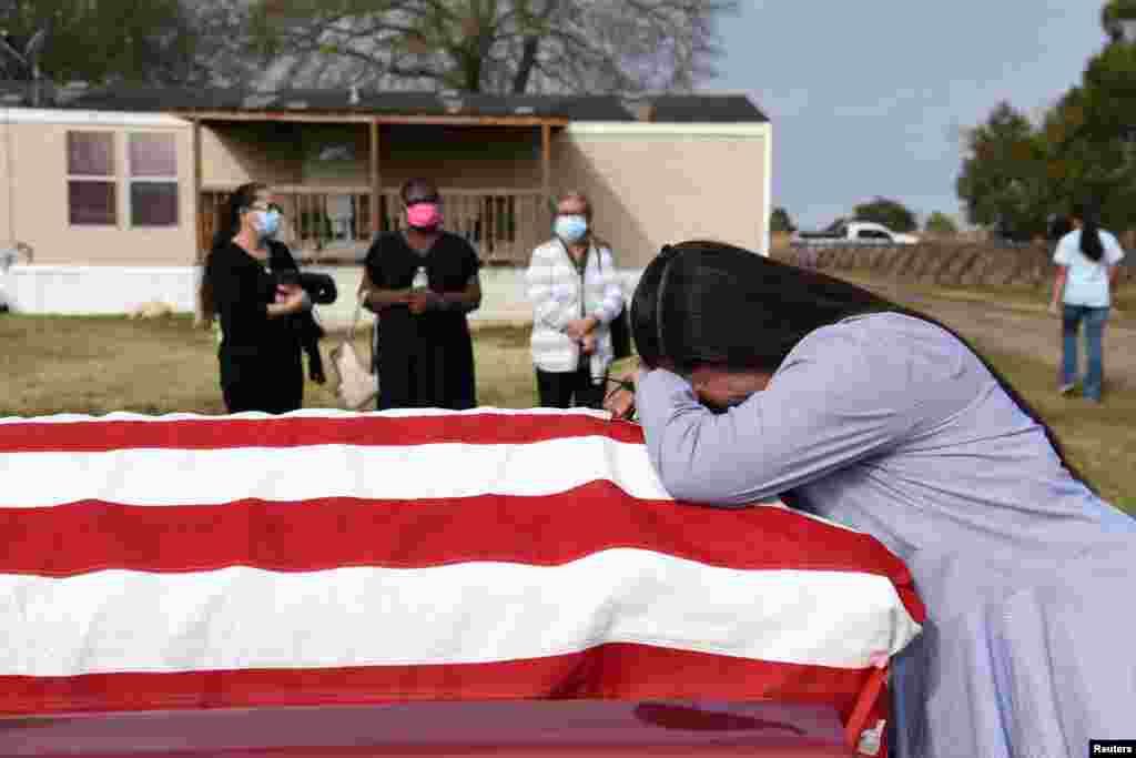
[[[676,502],[594,411],[7,418],[0,481],[9,723],[711,700],[828,706],[882,755],[924,620],[876,540]]]

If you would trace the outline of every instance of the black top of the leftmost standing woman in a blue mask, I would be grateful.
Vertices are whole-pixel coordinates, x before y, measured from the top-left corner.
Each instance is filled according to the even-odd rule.
[[[295,270],[295,259],[282,242],[269,241],[268,251],[268,260],[261,263],[235,242],[226,242],[209,256],[207,270],[220,315],[222,351],[262,353],[300,349],[293,319],[268,317],[268,303],[276,301],[274,274]]]

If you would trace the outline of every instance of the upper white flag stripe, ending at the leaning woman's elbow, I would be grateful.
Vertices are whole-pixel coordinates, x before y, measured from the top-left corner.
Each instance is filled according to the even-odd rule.
[[[87,499],[161,506],[243,498],[548,495],[598,480],[615,483],[633,498],[671,499],[644,445],[577,436],[526,444],[9,453],[0,455],[0,508]]]

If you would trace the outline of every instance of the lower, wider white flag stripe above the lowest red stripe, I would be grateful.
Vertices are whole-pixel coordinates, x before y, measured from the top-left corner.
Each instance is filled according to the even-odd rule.
[[[735,570],[644,550],[556,567],[0,576],[0,674],[540,658],[605,642],[861,668],[918,632],[884,576]]]

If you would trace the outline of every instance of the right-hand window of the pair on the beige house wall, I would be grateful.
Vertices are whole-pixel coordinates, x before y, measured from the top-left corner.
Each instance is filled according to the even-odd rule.
[[[135,132],[126,140],[131,226],[177,226],[177,138]]]

